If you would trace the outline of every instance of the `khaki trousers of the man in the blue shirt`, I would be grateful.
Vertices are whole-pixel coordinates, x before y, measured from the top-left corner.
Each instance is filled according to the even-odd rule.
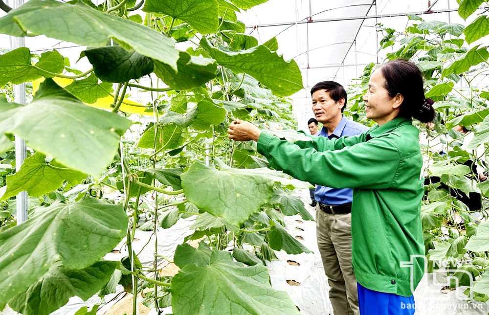
[[[352,265],[352,214],[328,214],[316,206],[317,246],[330,285],[334,315],[358,315]]]

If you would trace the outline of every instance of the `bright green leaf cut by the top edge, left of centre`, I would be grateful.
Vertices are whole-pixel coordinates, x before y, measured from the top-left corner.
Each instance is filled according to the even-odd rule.
[[[219,4],[216,0],[147,0],[142,10],[183,20],[201,34],[215,33],[219,27]]]

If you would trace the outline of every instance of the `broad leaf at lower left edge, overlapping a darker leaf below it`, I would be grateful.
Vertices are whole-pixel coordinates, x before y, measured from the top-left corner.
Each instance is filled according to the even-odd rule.
[[[43,208],[0,233],[0,304],[25,292],[56,261],[66,269],[94,264],[122,240],[127,225],[121,204],[84,198]]]

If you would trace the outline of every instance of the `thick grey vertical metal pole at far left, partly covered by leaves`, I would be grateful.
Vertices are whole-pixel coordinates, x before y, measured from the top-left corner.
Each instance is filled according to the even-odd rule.
[[[11,7],[15,9],[24,3],[23,0],[12,0]],[[23,37],[10,36],[10,46],[12,49],[16,49],[24,46]],[[25,83],[14,85],[14,102],[25,105]],[[15,137],[15,170],[16,172],[22,166],[26,157],[25,140],[19,136]],[[27,221],[27,192],[20,192],[17,197],[17,224]]]

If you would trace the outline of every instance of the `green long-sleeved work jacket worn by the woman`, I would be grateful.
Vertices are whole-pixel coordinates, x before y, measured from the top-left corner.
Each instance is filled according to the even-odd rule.
[[[278,170],[333,188],[353,188],[352,259],[367,289],[411,296],[424,272],[418,129],[395,118],[363,134],[289,141],[263,132],[257,150]]]

